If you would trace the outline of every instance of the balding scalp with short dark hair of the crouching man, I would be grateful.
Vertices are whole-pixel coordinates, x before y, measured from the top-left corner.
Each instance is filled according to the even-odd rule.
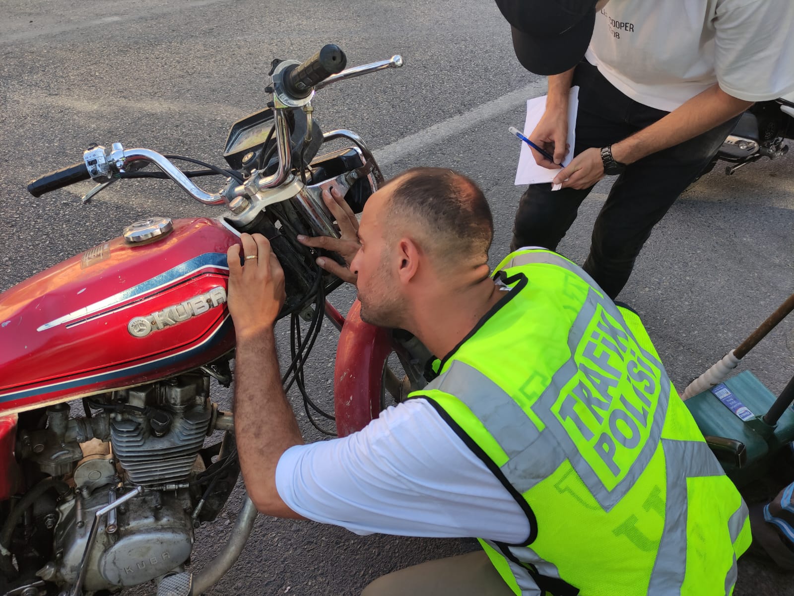
[[[381,220],[387,235],[410,234],[443,265],[488,260],[493,218],[471,179],[443,167],[414,167],[388,188]]]

